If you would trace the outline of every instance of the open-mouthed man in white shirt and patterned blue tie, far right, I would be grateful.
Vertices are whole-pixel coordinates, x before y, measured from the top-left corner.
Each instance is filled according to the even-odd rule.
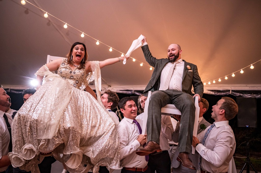
[[[193,136],[192,145],[200,154],[198,168],[201,173],[227,173],[235,152],[236,141],[228,120],[238,113],[238,105],[229,97],[222,97],[212,106],[211,118],[215,122],[204,132]],[[201,141],[201,142],[200,142]]]

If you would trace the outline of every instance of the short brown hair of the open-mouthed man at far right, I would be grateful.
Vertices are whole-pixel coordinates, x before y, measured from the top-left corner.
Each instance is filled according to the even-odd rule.
[[[222,97],[225,101],[220,106],[220,109],[225,110],[225,118],[230,120],[238,114],[238,105],[236,104],[235,100],[229,97]]]

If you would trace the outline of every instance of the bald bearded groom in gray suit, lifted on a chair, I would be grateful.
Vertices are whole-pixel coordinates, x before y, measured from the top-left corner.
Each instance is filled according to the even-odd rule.
[[[154,67],[151,79],[143,94],[152,91],[148,108],[147,137],[148,143],[143,149],[138,149],[138,155],[149,155],[162,152],[159,146],[161,131],[161,108],[174,104],[181,112],[181,128],[179,136],[180,153],[177,160],[183,166],[194,169],[188,157],[192,144],[193,126],[195,120],[195,105],[193,97],[199,100],[203,95],[203,83],[198,74],[198,68],[192,63],[181,59],[181,48],[178,44],[170,44],[168,58],[156,59],[150,53],[146,37],[142,41],[144,57]],[[192,97],[191,88],[195,95]]]

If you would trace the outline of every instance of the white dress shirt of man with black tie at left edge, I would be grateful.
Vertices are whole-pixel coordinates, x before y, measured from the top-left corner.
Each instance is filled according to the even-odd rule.
[[[2,156],[5,156],[9,152],[9,142],[10,142],[10,134],[7,129],[7,125],[4,120],[4,113],[3,111],[0,111],[0,159]],[[12,124],[12,117],[9,114],[6,114],[8,118],[8,122],[11,125]],[[8,166],[5,166],[3,168],[0,168],[0,172],[5,171],[8,168]]]

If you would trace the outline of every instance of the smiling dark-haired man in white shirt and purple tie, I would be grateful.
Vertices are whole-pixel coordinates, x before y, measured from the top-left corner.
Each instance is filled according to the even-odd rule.
[[[145,156],[139,156],[135,151],[146,143],[146,134],[141,134],[142,120],[137,117],[137,106],[131,97],[124,97],[119,102],[123,119],[118,125],[120,164],[122,173],[149,173]]]

